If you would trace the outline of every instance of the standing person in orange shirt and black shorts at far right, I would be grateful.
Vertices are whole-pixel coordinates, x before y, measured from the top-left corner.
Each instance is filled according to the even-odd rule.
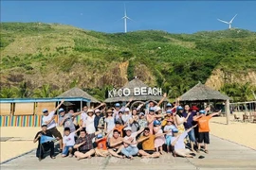
[[[201,149],[201,144],[204,142],[204,148],[205,152],[209,153],[207,144],[210,144],[210,137],[209,137],[209,132],[210,132],[210,127],[209,127],[209,121],[211,117],[214,115],[218,115],[221,110],[218,112],[211,113],[210,115],[206,115],[207,111],[210,110],[210,108],[206,108],[206,110],[200,110],[199,116],[195,116],[193,118],[193,121],[196,121],[198,123],[198,131],[199,131],[199,139],[198,139],[198,150],[197,152],[200,152]]]

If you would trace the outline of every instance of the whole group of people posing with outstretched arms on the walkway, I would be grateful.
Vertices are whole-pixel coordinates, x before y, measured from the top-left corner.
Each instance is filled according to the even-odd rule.
[[[159,106],[165,97],[166,94],[156,105],[149,102],[146,109],[143,109],[144,104],[140,104],[130,110],[131,99],[124,106],[116,103],[114,108],[106,110],[106,105],[102,103],[95,109],[84,106],[80,112],[65,112],[61,108],[62,101],[50,112],[43,110],[42,130],[34,139],[34,143],[38,141],[36,156],[41,161],[46,151],[50,150],[50,158],[55,159],[54,142],[41,144],[42,135],[54,136],[59,141],[62,157],[75,155],[78,160],[92,156],[131,160],[135,156],[158,158],[166,153],[193,157],[196,152],[200,152],[203,143],[203,151],[209,153],[209,120],[220,111],[207,115],[209,108],[198,110],[189,105],[183,108],[178,102],[168,103],[162,110]],[[64,136],[56,127],[57,110],[58,124],[64,127]],[[79,114],[80,121],[76,120]],[[166,152],[163,146],[166,146]]]

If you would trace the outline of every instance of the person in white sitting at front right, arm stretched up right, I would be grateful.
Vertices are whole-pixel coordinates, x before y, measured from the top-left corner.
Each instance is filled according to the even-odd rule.
[[[193,127],[196,127],[196,126],[197,125]],[[185,147],[184,139],[187,137],[188,132],[190,132],[193,127],[187,129],[181,134],[178,134],[178,129],[176,128],[173,129],[174,137],[172,138],[171,144],[174,146],[174,152],[176,155],[185,157],[185,158],[192,158],[192,155],[190,154],[193,154],[193,153],[190,149],[187,149]]]

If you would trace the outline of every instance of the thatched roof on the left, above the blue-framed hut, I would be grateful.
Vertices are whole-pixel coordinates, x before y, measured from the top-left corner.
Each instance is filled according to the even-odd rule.
[[[91,96],[90,94],[82,91],[82,89],[74,87],[64,93],[58,95],[57,97],[83,97],[91,100],[91,103],[101,103],[99,100]]]

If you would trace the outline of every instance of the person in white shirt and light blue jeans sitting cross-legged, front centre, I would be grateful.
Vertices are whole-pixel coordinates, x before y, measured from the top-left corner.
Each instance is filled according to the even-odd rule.
[[[121,153],[132,160],[134,158],[133,156],[138,153],[136,137],[144,130],[144,128],[141,128],[134,133],[132,133],[131,127],[125,127],[124,130],[126,136],[123,138],[124,147],[121,149]]]

